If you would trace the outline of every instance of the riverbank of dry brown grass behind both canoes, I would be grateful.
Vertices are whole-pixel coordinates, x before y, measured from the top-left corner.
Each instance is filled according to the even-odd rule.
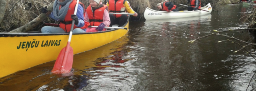
[[[146,7],[150,7],[152,9],[157,9],[157,3],[160,3],[164,0],[128,0],[131,7],[134,11],[139,13],[138,17],[131,17],[132,20],[143,20],[144,17],[143,12]],[[186,4],[187,0],[169,0],[173,1],[175,5],[178,6],[179,10],[186,10],[187,7],[180,6],[178,4]],[[81,1],[85,7],[88,7],[89,3],[87,0]],[[215,10],[218,10],[217,7],[220,4],[231,4],[237,3],[239,0],[202,0],[202,6],[211,3],[212,7]],[[40,15],[40,8],[49,5],[52,3],[52,0],[10,0],[9,5],[5,11],[4,19],[0,23],[0,32],[9,32],[13,29],[19,28],[22,25],[25,25],[29,21],[35,19],[38,15]],[[103,4],[106,3],[106,0],[103,0]],[[0,10],[1,12],[1,10]],[[34,27],[31,31],[38,31],[44,26],[44,23],[57,23],[55,20],[50,20],[47,18],[42,21],[37,27]]]

